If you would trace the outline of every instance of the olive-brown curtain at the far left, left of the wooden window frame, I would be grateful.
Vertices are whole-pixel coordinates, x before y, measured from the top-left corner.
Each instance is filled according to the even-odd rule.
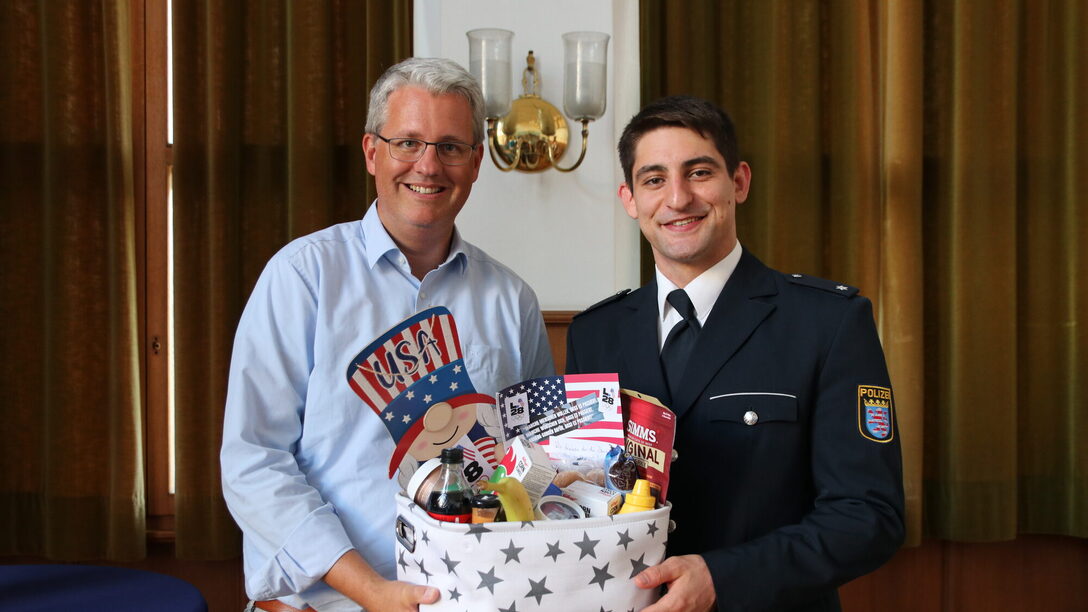
[[[145,554],[127,11],[0,3],[0,554]]]

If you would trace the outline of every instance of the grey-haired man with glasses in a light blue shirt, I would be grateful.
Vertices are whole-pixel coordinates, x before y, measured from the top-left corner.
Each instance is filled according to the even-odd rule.
[[[394,442],[348,385],[351,358],[445,306],[480,393],[554,374],[532,290],[454,221],[483,159],[483,98],[448,60],[409,59],[370,94],[362,138],[378,198],[361,221],[298,238],[268,264],[235,338],[223,490],[258,610],[416,610],[395,580]]]

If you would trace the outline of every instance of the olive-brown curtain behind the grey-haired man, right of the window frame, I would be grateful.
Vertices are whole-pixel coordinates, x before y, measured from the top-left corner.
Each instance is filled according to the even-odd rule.
[[[411,53],[411,2],[174,2],[176,535],[238,553],[219,449],[238,316],[290,238],[373,198],[360,143],[376,77]]]

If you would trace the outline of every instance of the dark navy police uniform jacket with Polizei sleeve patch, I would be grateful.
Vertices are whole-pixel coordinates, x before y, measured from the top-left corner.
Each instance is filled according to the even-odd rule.
[[[567,372],[677,414],[669,554],[706,560],[718,610],[839,610],[836,588],[903,541],[894,402],[869,301],[746,250],[676,395],[658,356],[657,286],[574,317]]]

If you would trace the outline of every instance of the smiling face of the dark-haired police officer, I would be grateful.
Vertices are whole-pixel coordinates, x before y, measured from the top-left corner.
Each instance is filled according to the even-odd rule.
[[[684,286],[737,244],[737,205],[747,198],[752,170],[732,175],[714,142],[687,127],[647,132],[634,149],[631,182],[619,187],[627,213],[639,221],[654,261]]]

